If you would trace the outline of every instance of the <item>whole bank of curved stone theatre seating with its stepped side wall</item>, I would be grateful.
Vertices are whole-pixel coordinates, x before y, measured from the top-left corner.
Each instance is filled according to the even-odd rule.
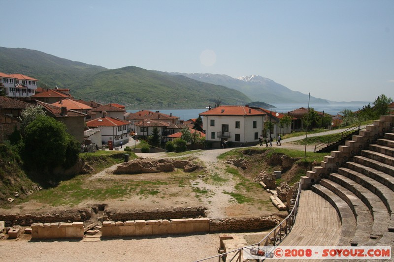
[[[312,190],[337,210],[343,229],[339,245],[393,244],[394,133],[387,133],[393,125],[394,116],[375,120],[301,178],[304,189],[320,181]]]

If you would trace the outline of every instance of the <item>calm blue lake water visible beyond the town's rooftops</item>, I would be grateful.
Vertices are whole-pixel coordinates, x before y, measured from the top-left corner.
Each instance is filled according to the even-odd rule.
[[[310,107],[313,108],[316,111],[320,112],[325,112],[330,115],[336,115],[340,111],[344,109],[350,109],[352,111],[357,111],[361,109],[363,106],[368,105],[368,102],[335,102],[335,103],[330,103],[330,104],[310,104]],[[371,102],[372,105],[372,102]],[[287,113],[289,111],[292,111],[294,109],[304,107],[307,108],[308,104],[277,104],[274,105],[276,108],[267,108],[268,110],[272,110],[274,112],[279,112],[279,113]],[[190,118],[197,118],[199,113],[205,112],[208,109],[207,108],[201,108],[201,109],[149,109],[150,111],[160,111],[160,113],[167,114],[169,115],[172,113],[173,116],[179,116],[181,120],[188,120]],[[135,113],[138,112],[139,110],[127,110],[127,112]]]

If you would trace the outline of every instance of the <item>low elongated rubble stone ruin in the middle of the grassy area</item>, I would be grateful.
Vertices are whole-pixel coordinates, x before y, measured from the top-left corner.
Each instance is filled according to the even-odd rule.
[[[200,168],[200,166],[189,160],[134,159],[119,165],[113,174],[135,175],[142,173],[172,172],[175,168],[182,168],[185,172],[190,173]]]

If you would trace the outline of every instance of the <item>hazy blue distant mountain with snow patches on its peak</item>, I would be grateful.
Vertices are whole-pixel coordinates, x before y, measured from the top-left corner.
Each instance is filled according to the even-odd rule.
[[[288,87],[282,86],[269,78],[250,75],[240,78],[232,78],[227,75],[218,74],[187,74],[187,73],[169,73],[171,75],[183,75],[198,81],[222,85],[241,91],[253,101],[263,101],[269,104],[297,104],[308,102],[309,95],[298,91],[293,91]],[[325,99],[311,96],[311,103],[328,104]]]

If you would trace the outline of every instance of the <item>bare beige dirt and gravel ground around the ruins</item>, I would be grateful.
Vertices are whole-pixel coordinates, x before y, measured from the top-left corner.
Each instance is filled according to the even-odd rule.
[[[287,145],[286,145],[287,144]],[[275,145],[274,145],[275,146]],[[290,143],[282,143],[282,147],[292,149],[300,146]],[[152,209],[170,206],[206,206],[207,215],[210,218],[223,218],[228,216],[264,216],[272,214],[284,215],[286,212],[279,212],[269,206],[236,204],[231,201],[228,194],[223,194],[224,190],[231,191],[234,183],[237,181],[225,174],[225,164],[217,160],[217,156],[223,152],[231,150],[212,149],[196,151],[193,155],[203,162],[206,172],[209,174],[219,174],[229,178],[229,181],[223,184],[211,184],[204,182],[203,178],[197,177],[193,184],[199,188],[206,189],[210,196],[204,196],[200,199],[195,197],[186,198],[185,193],[177,195],[177,190],[189,190],[185,188],[168,188],[167,195],[173,195],[171,198],[131,198],[127,201],[108,201],[106,209],[113,210],[132,210]],[[308,148],[310,150],[310,148]],[[313,150],[313,148],[312,148]],[[143,154],[140,157],[162,158],[164,153]],[[189,155],[188,155],[189,156]],[[190,155],[191,156],[191,155]],[[116,168],[113,166],[98,174],[92,175],[89,179],[92,181],[99,180],[105,182],[105,179],[146,179],[147,175],[112,175]],[[150,179],[166,179],[165,174],[149,174]],[[171,192],[173,190],[173,192]],[[208,195],[209,195],[208,194]],[[252,192],[253,194],[253,192]],[[265,191],[259,194],[268,194]],[[269,197],[269,195],[268,195]],[[82,203],[84,206],[98,203]],[[102,203],[100,203],[102,204]],[[41,208],[40,203],[28,202],[12,209],[1,210],[5,213],[31,213],[37,208]],[[78,207],[76,207],[78,208]],[[56,209],[56,208],[55,208]],[[60,209],[60,208],[59,208]],[[42,209],[41,209],[42,210]],[[42,210],[43,212],[52,212],[54,208]],[[283,214],[282,214],[283,213]],[[263,237],[262,233],[244,233],[250,240],[250,244],[257,242],[257,239]],[[255,241],[256,240],[256,241]],[[217,255],[219,247],[219,234],[197,234],[197,235],[169,235],[169,236],[152,236],[152,237],[125,237],[100,239],[85,238],[83,240],[48,240],[32,241],[29,235],[24,235],[16,240],[0,241],[0,261],[196,261],[198,259]],[[214,261],[217,261],[215,259]]]

